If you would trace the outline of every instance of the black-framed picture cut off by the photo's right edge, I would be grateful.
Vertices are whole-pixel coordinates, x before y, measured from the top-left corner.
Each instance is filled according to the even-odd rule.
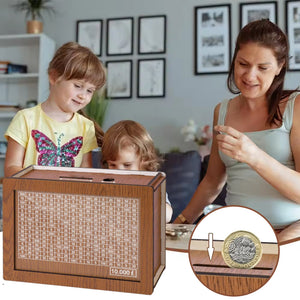
[[[289,71],[300,71],[300,1],[286,1],[285,11],[290,43]]]

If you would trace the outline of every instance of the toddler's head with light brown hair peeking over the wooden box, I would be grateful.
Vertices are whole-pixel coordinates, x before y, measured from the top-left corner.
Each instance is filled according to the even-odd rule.
[[[104,134],[102,164],[109,169],[157,171],[159,158],[147,130],[135,121],[125,120]]]

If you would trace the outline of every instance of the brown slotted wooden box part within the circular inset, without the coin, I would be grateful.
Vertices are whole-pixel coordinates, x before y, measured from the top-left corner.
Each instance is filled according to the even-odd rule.
[[[273,275],[278,263],[278,245],[264,244],[266,252],[260,262],[253,269],[230,268],[223,260],[220,249],[222,241],[214,242],[215,250],[212,260],[207,250],[195,245],[189,250],[192,269],[197,278],[210,290],[227,296],[241,296],[252,293],[261,288]],[[192,243],[191,243],[192,245]],[[202,245],[208,245],[204,241]]]

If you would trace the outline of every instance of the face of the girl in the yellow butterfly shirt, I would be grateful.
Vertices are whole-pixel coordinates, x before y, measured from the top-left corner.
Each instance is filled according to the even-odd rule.
[[[84,80],[55,80],[50,78],[51,98],[64,112],[74,113],[84,108],[92,99],[95,86]]]

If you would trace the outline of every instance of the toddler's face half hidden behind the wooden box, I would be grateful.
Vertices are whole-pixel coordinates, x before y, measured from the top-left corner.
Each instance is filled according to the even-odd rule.
[[[107,161],[109,169],[142,170],[141,159],[134,147],[127,146],[120,150],[116,160]]]

